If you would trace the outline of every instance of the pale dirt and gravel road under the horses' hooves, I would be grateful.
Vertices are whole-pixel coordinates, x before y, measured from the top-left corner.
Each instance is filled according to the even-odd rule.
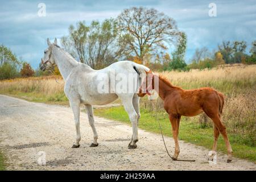
[[[166,154],[158,134],[139,130],[138,148],[129,150],[131,127],[95,117],[99,146],[93,139],[85,113],[81,113],[81,147],[71,148],[75,124],[69,107],[38,104],[0,95],[0,147],[7,155],[8,169],[21,170],[255,170],[256,165],[218,153],[216,165],[207,162],[208,150],[180,141],[180,158],[196,162],[174,162]],[[172,138],[167,147],[174,152]],[[41,155],[42,154],[42,155]],[[46,165],[38,159],[46,156]],[[43,160],[41,160],[43,161]]]

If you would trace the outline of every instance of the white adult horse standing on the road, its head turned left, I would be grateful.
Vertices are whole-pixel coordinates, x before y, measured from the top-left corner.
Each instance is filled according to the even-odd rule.
[[[119,98],[125,107],[126,112],[129,115],[131,125],[133,126],[133,135],[129,143],[128,148],[136,148],[136,142],[138,142],[138,120],[139,113],[139,97],[138,89],[141,85],[141,77],[135,79],[134,92],[123,92],[123,90],[116,90],[119,85],[127,85],[127,80],[121,80],[117,83],[113,81],[110,83],[111,77],[122,75],[142,75],[145,71],[150,69],[144,65],[136,64],[131,61],[118,61],[113,63],[109,67],[100,70],[94,70],[86,64],[77,62],[69,53],[65,52],[59,46],[57,46],[57,40],[53,44],[47,39],[48,48],[44,51],[44,57],[42,63],[40,63],[40,69],[45,71],[51,68],[53,65],[57,65],[61,76],[64,78],[65,86],[64,93],[69,100],[69,104],[74,114],[76,125],[76,142],[72,148],[80,146],[80,104],[84,104],[90,126],[93,130],[93,143],[90,147],[97,147],[98,134],[94,126],[93,107],[92,105],[106,105]],[[108,93],[99,93],[99,85],[102,84],[102,78],[104,85],[109,85]]]

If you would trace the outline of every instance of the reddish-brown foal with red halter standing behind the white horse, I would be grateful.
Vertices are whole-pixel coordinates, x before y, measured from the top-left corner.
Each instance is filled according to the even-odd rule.
[[[214,123],[214,143],[212,150],[216,151],[218,136],[221,133],[225,140],[226,147],[228,148],[227,162],[231,162],[232,147],[229,143],[226,127],[221,121],[221,113],[224,106],[224,95],[213,88],[184,90],[172,85],[170,81],[163,76],[153,75],[151,71],[146,73],[147,77],[150,77],[150,79],[147,79],[146,81],[146,92],[142,93],[142,89],[140,89],[138,95],[143,97],[145,94],[150,94],[151,90],[155,89],[156,92],[158,92],[159,97],[162,98],[164,102],[164,109],[169,114],[172,125],[172,135],[175,141],[174,160],[178,158],[180,153],[178,135],[181,116],[193,117],[204,112]],[[158,80],[158,86],[156,86],[158,88],[155,88],[155,80]],[[212,159],[213,156],[210,157],[209,160]]]

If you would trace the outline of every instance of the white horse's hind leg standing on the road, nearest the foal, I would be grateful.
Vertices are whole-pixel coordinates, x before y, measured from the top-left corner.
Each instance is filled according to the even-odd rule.
[[[129,149],[137,148],[136,142],[138,142],[138,114],[133,106],[133,96],[121,98],[123,106],[129,115],[131,126],[133,127],[133,135],[131,136],[131,142],[128,145]]]

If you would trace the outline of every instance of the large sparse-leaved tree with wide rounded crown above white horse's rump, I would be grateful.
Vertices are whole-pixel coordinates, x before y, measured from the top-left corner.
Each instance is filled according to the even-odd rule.
[[[144,64],[150,52],[167,50],[167,45],[180,35],[174,19],[155,9],[132,7],[117,18],[119,55],[137,57]]]

